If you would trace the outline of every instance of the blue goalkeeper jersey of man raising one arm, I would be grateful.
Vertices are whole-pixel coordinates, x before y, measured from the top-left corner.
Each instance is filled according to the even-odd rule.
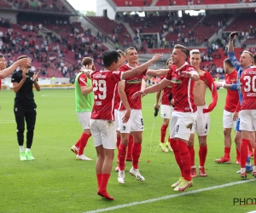
[[[230,87],[230,90],[238,90],[238,95],[239,95],[239,102],[240,105],[242,103],[242,95],[241,95],[241,90],[240,90],[240,78],[241,78],[241,72],[243,72],[243,70],[241,69],[241,65],[238,62],[238,60],[236,59],[236,55],[235,52],[229,52],[229,60],[232,63],[232,65],[235,67],[236,71],[237,71],[237,83],[234,83],[233,87]],[[248,66],[247,68],[249,68],[251,66]],[[235,86],[236,85],[236,86]]]

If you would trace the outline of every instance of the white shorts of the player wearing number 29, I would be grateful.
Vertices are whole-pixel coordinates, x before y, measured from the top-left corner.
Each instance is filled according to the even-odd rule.
[[[106,149],[115,149],[116,130],[114,121],[90,119],[90,133],[95,147],[102,145]]]

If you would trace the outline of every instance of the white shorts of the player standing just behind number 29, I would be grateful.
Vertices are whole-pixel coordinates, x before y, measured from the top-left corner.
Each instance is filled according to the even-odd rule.
[[[131,116],[127,123],[122,122],[126,110],[119,111],[119,130],[120,133],[141,132],[144,130],[143,113],[140,109],[131,109]]]

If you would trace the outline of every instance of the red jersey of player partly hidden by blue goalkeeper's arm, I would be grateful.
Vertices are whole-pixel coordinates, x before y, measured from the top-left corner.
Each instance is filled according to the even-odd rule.
[[[234,70],[233,72],[225,76],[225,82],[228,84],[237,83],[236,79],[237,79],[236,70]],[[238,101],[239,101],[238,92],[236,90],[227,89],[227,96],[226,96],[224,110],[228,112],[235,112]]]

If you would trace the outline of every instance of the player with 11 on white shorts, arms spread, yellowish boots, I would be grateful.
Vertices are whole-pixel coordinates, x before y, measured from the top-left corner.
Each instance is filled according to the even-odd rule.
[[[186,60],[189,49],[177,44],[172,51],[172,67],[166,78],[147,89],[143,89],[133,95],[154,93],[164,89],[170,82],[173,83],[172,92],[174,99],[174,111],[172,112],[170,138],[173,153],[181,171],[181,177],[172,184],[174,191],[183,191],[192,187],[190,176],[191,156],[188,149],[189,136],[193,133],[193,125],[197,116],[197,107],[194,101],[193,89],[199,75],[194,66],[190,66]]]

